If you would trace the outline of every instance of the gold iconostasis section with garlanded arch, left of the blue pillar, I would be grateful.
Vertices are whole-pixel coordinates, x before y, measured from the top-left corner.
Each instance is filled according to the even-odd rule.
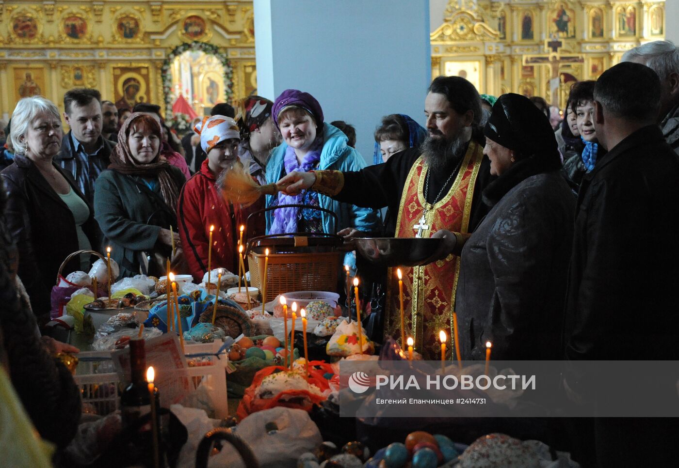
[[[252,1],[0,1],[0,116],[73,87],[198,115],[255,92]]]

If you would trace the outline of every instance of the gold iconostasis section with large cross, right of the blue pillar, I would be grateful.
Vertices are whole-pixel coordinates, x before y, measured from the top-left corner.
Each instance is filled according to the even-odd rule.
[[[563,108],[574,81],[596,79],[625,51],[665,39],[665,0],[449,0],[431,34],[432,77],[481,93],[542,96]]]

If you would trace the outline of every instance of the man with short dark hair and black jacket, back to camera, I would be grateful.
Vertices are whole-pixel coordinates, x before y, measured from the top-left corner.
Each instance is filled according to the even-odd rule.
[[[656,124],[660,93],[658,75],[631,62],[596,83],[595,129],[608,153],[584,176],[579,193],[567,359],[679,359],[679,162]],[[575,393],[596,376],[585,376],[585,385],[578,380],[566,376]],[[620,391],[630,381],[634,376]],[[651,388],[676,398],[674,383],[663,385]],[[591,402],[601,408],[606,399],[599,394]],[[677,427],[671,418],[596,418],[589,441],[596,466],[672,466],[679,459]],[[644,449],[627,450],[633,445]]]

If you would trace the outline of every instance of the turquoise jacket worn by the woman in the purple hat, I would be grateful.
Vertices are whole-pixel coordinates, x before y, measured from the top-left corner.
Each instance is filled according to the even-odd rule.
[[[358,151],[347,145],[348,138],[346,138],[346,135],[341,130],[329,123],[324,123],[323,132],[324,142],[323,150],[320,152],[320,161],[318,161],[319,170],[347,172],[359,171],[365,168],[363,157],[361,157]],[[286,143],[282,143],[272,151],[266,165],[266,182],[268,184],[278,182],[280,177],[283,176],[283,159],[285,158],[287,147]],[[274,197],[272,195],[266,196],[267,207],[270,207],[273,201]],[[353,227],[359,231],[380,230],[378,212],[372,208],[359,208],[348,203],[340,203],[320,193],[318,194],[318,204],[321,208],[337,214],[338,223],[335,226],[335,219],[329,214],[321,212],[323,229],[327,233],[337,233],[346,227]],[[266,214],[267,233],[271,229],[273,214],[273,211]]]

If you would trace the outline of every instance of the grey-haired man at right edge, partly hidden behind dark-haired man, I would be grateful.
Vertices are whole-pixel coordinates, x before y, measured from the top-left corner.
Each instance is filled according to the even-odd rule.
[[[660,77],[658,121],[665,141],[679,155],[679,47],[653,41],[628,50],[622,61],[646,65]]]

